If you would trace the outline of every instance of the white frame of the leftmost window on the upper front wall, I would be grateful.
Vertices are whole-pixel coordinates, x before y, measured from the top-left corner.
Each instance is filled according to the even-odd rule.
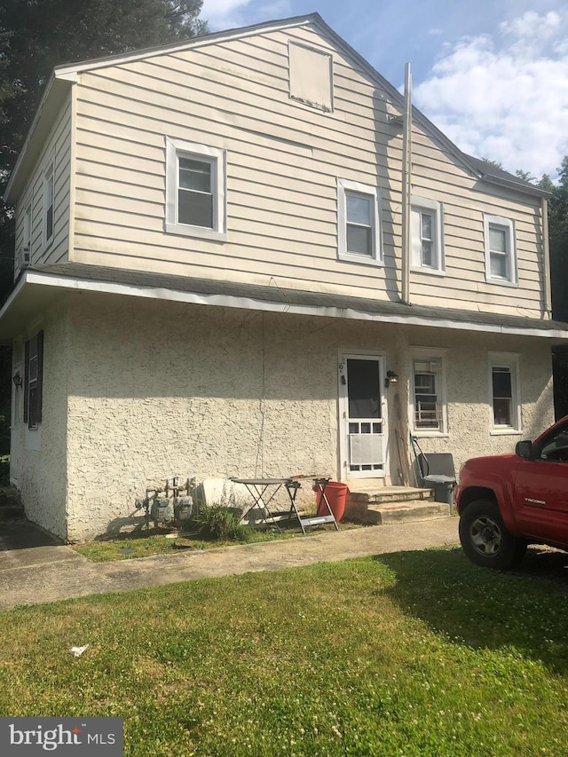
[[[195,158],[211,165],[213,226],[181,224],[177,218],[179,158]],[[226,241],[226,150],[182,139],[166,137],[166,219],[165,231],[198,239]]]

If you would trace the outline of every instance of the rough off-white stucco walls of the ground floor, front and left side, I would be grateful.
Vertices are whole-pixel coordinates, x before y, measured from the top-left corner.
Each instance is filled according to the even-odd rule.
[[[383,353],[400,377],[387,391],[395,483],[393,400],[397,391],[404,424],[410,347],[447,349],[449,433],[421,444],[454,453],[456,469],[552,420],[550,347],[540,339],[85,293],[44,330],[42,449],[21,451],[22,495],[32,519],[69,540],[126,522],[146,486],[173,475],[339,477],[342,350]],[[522,434],[490,434],[488,350],[521,354]]]

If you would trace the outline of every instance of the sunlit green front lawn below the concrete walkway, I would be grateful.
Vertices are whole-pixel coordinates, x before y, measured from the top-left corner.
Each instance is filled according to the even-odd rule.
[[[0,714],[122,716],[128,757],[565,757],[565,589],[445,549],[20,608]]]

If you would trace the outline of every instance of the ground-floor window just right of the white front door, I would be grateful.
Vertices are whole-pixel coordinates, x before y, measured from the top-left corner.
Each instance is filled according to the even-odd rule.
[[[417,436],[447,433],[446,351],[412,351],[413,431]]]

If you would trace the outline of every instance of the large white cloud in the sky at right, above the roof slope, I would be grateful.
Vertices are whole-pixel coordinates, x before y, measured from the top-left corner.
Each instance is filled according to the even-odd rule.
[[[526,12],[461,38],[414,87],[414,102],[466,153],[556,174],[568,153],[568,12]]]

